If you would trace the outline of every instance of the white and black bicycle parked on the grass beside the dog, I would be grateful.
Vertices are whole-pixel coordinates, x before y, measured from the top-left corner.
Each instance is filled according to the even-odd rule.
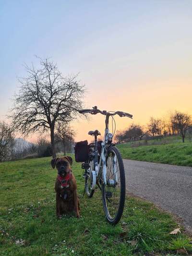
[[[112,117],[113,126],[113,121],[115,124],[114,115],[118,114],[120,117],[125,116],[129,118],[132,118],[132,115],[122,111],[101,111],[96,106],[91,110],[79,110],[79,113],[90,113],[93,115],[100,113],[106,116],[104,141],[100,143],[99,152],[97,148],[97,136],[101,135],[100,132],[98,130],[88,132],[88,134],[94,136],[95,143],[89,145],[88,158],[82,164],[82,168],[85,170],[86,194],[88,197],[92,197],[96,184],[99,186],[102,193],[105,216],[109,223],[115,225],[120,221],[125,203],[125,172],[120,151],[112,143],[115,129],[113,134],[109,133],[109,117]]]

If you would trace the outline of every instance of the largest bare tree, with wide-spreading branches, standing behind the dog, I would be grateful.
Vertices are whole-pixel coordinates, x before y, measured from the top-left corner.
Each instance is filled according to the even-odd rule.
[[[54,132],[58,122],[71,121],[82,108],[84,85],[77,75],[63,77],[57,64],[40,59],[40,68],[26,66],[12,108],[13,127],[22,134],[50,132],[52,156],[56,157]]]

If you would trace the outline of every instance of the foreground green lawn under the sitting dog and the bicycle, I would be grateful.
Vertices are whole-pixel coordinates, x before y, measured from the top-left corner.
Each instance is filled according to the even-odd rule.
[[[123,218],[116,226],[105,219],[101,194],[80,199],[80,219],[55,216],[56,171],[51,158],[0,163],[0,256],[70,255],[175,255],[192,251],[184,234],[170,235],[180,227],[151,203],[127,197]],[[78,194],[84,191],[80,164],[74,162]],[[179,252],[179,251],[178,251]]]

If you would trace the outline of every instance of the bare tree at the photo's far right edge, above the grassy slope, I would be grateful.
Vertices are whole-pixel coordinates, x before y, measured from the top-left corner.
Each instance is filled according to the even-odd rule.
[[[177,130],[180,131],[180,135],[184,143],[186,131],[192,125],[191,116],[186,113],[175,111],[175,114],[172,116],[172,119],[173,119],[173,125]]]

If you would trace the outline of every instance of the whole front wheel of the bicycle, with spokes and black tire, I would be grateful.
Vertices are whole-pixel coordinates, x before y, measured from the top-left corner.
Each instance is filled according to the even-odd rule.
[[[102,183],[102,201],[109,223],[117,224],[125,203],[125,171],[120,151],[115,146],[108,148],[106,156],[107,185]]]

